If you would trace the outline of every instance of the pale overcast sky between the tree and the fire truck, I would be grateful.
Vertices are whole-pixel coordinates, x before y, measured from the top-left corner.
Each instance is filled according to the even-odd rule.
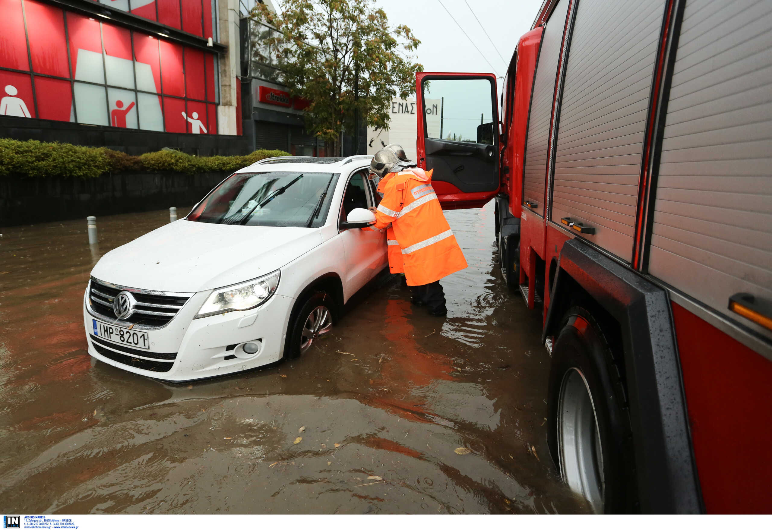
[[[408,25],[421,40],[418,62],[426,72],[493,72],[503,76],[520,35],[530,29],[542,0],[376,0],[376,3],[384,8],[392,25]]]

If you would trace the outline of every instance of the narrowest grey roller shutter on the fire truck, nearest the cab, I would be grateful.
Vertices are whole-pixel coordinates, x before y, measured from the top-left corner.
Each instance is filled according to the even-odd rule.
[[[523,201],[533,201],[535,214],[544,214],[544,182],[547,178],[547,142],[550,138],[550,116],[555,92],[557,59],[568,11],[568,0],[560,0],[547,21],[533,81],[530,116],[523,167]],[[527,208],[528,209],[528,208]]]

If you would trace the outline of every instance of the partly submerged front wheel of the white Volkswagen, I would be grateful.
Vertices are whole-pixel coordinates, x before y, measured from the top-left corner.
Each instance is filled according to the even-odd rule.
[[[327,292],[314,292],[296,312],[289,324],[284,358],[296,359],[313,343],[330,333],[334,323],[334,299]]]

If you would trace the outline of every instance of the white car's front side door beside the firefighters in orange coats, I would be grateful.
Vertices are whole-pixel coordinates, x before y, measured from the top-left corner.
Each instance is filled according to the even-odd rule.
[[[340,204],[338,230],[343,240],[346,253],[346,278],[350,296],[369,282],[388,260],[386,231],[344,229],[341,223],[354,208],[374,208],[370,185],[367,182],[367,170],[358,170],[349,177],[344,188],[343,201]]]

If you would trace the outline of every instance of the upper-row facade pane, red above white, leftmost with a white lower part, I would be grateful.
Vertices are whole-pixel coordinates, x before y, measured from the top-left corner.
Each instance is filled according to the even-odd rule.
[[[102,38],[99,22],[68,12],[67,33],[69,35],[69,56],[73,62],[75,79],[104,84]],[[107,110],[105,112],[107,113]],[[80,115],[78,118],[80,119]]]

